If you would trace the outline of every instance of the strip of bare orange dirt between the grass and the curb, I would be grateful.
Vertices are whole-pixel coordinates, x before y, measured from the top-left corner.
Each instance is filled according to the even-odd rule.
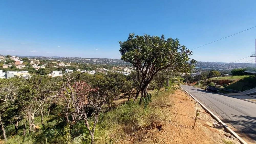
[[[170,96],[173,99],[173,106],[168,108],[170,118],[156,133],[157,143],[240,143],[187,93],[177,90]],[[199,116],[193,129],[197,109]]]

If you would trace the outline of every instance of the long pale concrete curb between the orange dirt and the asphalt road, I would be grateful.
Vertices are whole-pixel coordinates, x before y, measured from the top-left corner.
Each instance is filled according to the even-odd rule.
[[[182,88],[182,87],[181,87]],[[182,88],[184,90],[184,88]],[[186,93],[188,93],[186,90],[184,90]],[[223,123],[215,114],[213,114],[207,107],[205,107],[203,104],[201,104],[194,96],[192,96],[190,93],[188,93],[191,97],[193,97],[201,106],[204,108],[214,119],[216,119],[219,124],[223,125],[223,127],[230,132],[234,137],[236,137],[242,144],[248,144],[245,142],[241,137],[239,137],[231,128],[229,128],[225,123]]]

